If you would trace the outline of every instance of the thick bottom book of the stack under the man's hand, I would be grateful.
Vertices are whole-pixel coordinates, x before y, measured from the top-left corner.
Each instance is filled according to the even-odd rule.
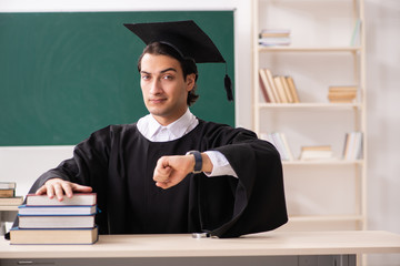
[[[10,229],[10,244],[94,244],[99,238],[98,227],[70,229]]]

